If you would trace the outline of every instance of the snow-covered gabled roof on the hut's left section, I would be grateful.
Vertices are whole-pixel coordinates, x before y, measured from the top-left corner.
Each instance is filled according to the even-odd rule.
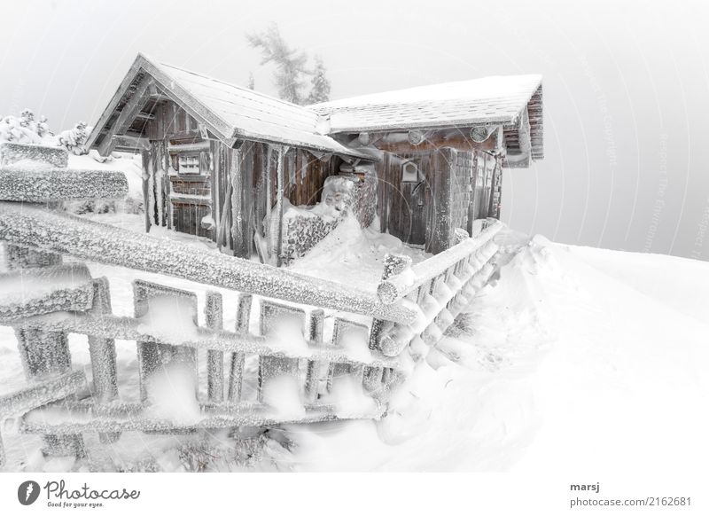
[[[160,90],[199,121],[205,121],[208,129],[216,133],[214,136],[228,144],[235,139],[251,139],[360,156],[359,152],[318,130],[319,117],[312,110],[177,66],[158,63],[143,54],[138,54],[126,79],[94,127],[89,146],[95,145],[106,125],[110,125],[112,113],[126,102],[130,87],[135,87],[136,77],[140,74],[151,75]]]

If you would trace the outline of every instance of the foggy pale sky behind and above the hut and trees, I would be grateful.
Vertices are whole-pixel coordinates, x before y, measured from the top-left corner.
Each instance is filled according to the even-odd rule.
[[[332,97],[544,75],[546,159],[503,220],[570,244],[709,260],[709,12],[690,2],[4,3],[0,114],[93,123],[136,52],[274,93],[245,32],[323,56]]]

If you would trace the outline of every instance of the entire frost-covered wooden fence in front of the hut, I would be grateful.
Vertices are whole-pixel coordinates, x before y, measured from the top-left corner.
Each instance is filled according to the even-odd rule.
[[[435,344],[487,282],[501,227],[492,223],[414,266],[387,257],[375,294],[51,209],[73,197],[121,197],[121,175],[87,192],[83,171],[33,167],[33,181],[24,172],[12,163],[0,168],[0,239],[12,269],[0,275],[0,324],[14,328],[27,378],[26,387],[0,396],[0,419],[18,417],[19,431],[42,434],[51,455],[81,455],[86,433],[108,443],[127,431],[380,418],[409,370],[404,351],[417,358],[421,346]],[[62,263],[67,255],[228,288],[238,300],[224,306],[220,293],[207,291],[199,325],[196,293],[136,280],[134,315],[118,317],[108,281],[82,263]],[[226,310],[236,315],[233,328],[223,327]],[[72,370],[68,333],[88,336],[90,382]],[[140,401],[121,400],[116,339],[136,342]],[[165,378],[192,389],[186,415],[160,410],[156,385]],[[245,386],[255,390],[252,399]],[[0,462],[2,450],[0,442]]]

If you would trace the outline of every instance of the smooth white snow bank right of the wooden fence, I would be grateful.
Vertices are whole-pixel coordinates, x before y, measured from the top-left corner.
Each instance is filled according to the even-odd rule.
[[[709,264],[519,243],[501,235],[510,254],[499,275],[436,348],[415,344],[425,360],[386,418],[291,428],[297,469],[589,474],[705,463],[709,311],[695,306],[707,296],[682,294]],[[652,262],[672,262],[674,274]]]

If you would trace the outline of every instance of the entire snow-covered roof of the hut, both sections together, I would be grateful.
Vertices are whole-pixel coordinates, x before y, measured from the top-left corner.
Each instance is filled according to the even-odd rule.
[[[390,129],[446,129],[500,124],[508,155],[519,154],[518,128],[528,113],[531,157],[543,156],[541,75],[495,76],[297,106],[138,54],[129,74],[94,126],[87,148],[109,148],[125,134],[131,98],[145,95],[149,76],[160,92],[178,103],[227,145],[255,140],[314,152],[371,159],[364,149],[342,145],[331,135]],[[122,115],[122,116],[121,116]],[[123,124],[121,126],[121,123]],[[118,127],[117,127],[118,126]],[[120,129],[120,130],[116,130]],[[122,132],[121,132],[122,131]],[[522,152],[524,155],[526,152]]]

